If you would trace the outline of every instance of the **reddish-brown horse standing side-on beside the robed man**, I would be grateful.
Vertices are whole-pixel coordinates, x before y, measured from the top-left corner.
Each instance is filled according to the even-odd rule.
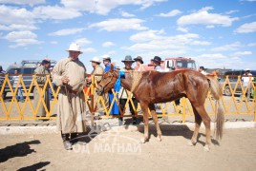
[[[112,66],[111,69],[103,75],[101,82],[98,84],[98,95],[102,95],[113,88],[117,82],[117,78],[118,70],[115,70]],[[200,125],[203,121],[206,135],[204,149],[209,151],[209,145],[211,143],[211,120],[204,108],[205,98],[209,89],[216,100],[216,138],[222,138],[224,110],[220,105],[220,100],[223,92],[218,81],[212,76],[205,76],[195,70],[181,70],[173,72],[132,71],[125,72],[124,76],[121,77],[120,80],[121,85],[125,89],[132,91],[141,106],[144,120],[143,142],[148,141],[148,108],[150,109],[154,123],[156,124],[158,139],[161,140],[160,125],[158,123],[154,104],[171,102],[181,97],[186,97],[192,105],[196,121],[195,131],[191,142],[189,143],[191,145],[196,144]]]

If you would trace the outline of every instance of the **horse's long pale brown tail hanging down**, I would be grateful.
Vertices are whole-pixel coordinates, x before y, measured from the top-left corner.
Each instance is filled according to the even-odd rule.
[[[216,139],[219,140],[223,138],[223,129],[224,129],[224,107],[220,103],[221,98],[223,96],[223,90],[216,78],[212,76],[207,76],[207,79],[209,80],[211,94],[213,98],[216,100],[216,104],[215,104],[216,124],[215,124],[214,133],[215,133]]]

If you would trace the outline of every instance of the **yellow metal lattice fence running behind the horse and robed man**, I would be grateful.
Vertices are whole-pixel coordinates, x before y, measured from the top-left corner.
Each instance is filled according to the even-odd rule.
[[[13,75],[13,74],[12,74]],[[53,114],[56,113],[56,104],[57,104],[57,96],[60,87],[57,87],[56,89],[53,88],[50,75],[46,75],[47,81],[43,87],[39,88],[39,85],[36,81],[36,75],[32,76],[32,82],[30,86],[26,87],[23,76],[19,75],[19,80],[17,85],[15,85],[15,88],[11,85],[10,77],[11,75],[6,74],[5,79],[1,85],[0,89],[0,120],[36,120],[36,119],[55,119]],[[28,76],[28,75],[26,75]],[[18,86],[21,85],[25,102],[20,103],[16,100],[15,95],[18,91]],[[250,82],[251,87],[255,91],[255,85],[253,82]],[[111,108],[113,107],[114,103],[117,102],[119,113],[123,117],[131,117],[131,114],[125,114],[126,108],[129,107],[129,102],[132,103],[132,107],[136,111],[137,117],[142,117],[142,114],[138,114],[140,111],[140,106],[138,105],[138,108],[135,108],[135,105],[132,101],[132,94],[129,91],[126,91],[128,94],[128,99],[125,104],[125,108],[122,111],[119,106],[118,101],[118,95],[117,92],[112,89],[112,92],[114,94],[114,99],[112,102],[110,102],[109,106],[106,106],[104,103],[104,99],[102,96],[99,96],[99,98],[96,100],[96,104],[94,104],[94,98],[95,98],[95,86],[97,86],[95,82],[95,76],[92,75],[92,85],[88,86],[87,89],[84,91],[85,95],[85,103],[87,104],[87,110],[93,114],[96,112],[96,104],[101,104],[104,109],[104,115],[102,118],[113,118],[113,117],[119,117],[119,116],[113,116],[110,115]],[[246,91],[248,89],[248,85],[243,88],[241,77],[238,76],[238,81],[236,82],[236,85],[232,87],[231,82],[229,80],[229,77],[226,76],[224,83],[222,85],[224,88],[229,88],[231,91],[231,96],[223,96],[222,98],[222,104],[224,105],[224,112],[225,115],[230,114],[250,114],[254,115],[254,122],[256,122],[256,97],[253,97],[253,99],[250,99],[250,101],[247,101],[245,98]],[[238,87],[242,87],[242,96],[238,96],[236,94]],[[40,100],[38,103],[34,106],[32,104],[32,93],[33,89],[37,88],[38,93],[40,95]],[[44,101],[44,92],[46,88],[51,88],[53,92],[53,101],[51,101],[50,108],[47,108],[47,105]],[[10,92],[8,93],[8,100],[4,100],[5,89],[10,89]],[[241,100],[240,102],[238,100]],[[244,102],[245,101],[245,102]],[[181,99],[181,104],[177,105],[175,102],[166,103],[165,107],[163,108],[162,104],[160,104],[161,107],[161,114],[158,116],[165,117],[165,116],[180,116],[181,122],[184,123],[186,121],[186,116],[192,116],[193,115],[193,109],[191,104],[186,98]],[[46,117],[36,117],[36,114],[38,112],[38,108],[40,105],[43,105],[44,109],[46,110]],[[211,97],[210,93],[208,93],[206,100],[205,100],[205,108],[209,115],[214,115],[215,113],[215,100]]]

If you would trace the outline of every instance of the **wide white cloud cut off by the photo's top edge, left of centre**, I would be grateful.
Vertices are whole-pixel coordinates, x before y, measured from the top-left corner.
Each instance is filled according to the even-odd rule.
[[[61,0],[61,4],[71,9],[106,15],[118,6],[137,5],[141,9],[146,9],[155,3],[164,1],[167,0],[92,0],[86,1],[86,3],[80,0]]]

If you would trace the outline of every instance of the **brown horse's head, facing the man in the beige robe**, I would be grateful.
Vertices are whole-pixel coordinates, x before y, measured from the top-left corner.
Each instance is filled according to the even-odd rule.
[[[100,83],[96,88],[96,93],[101,96],[103,93],[108,92],[113,88],[118,79],[118,70],[115,70],[113,65],[108,72],[104,73]]]

